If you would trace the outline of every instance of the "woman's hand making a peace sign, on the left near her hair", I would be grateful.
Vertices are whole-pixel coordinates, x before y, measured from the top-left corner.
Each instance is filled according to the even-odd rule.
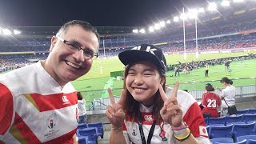
[[[110,106],[106,107],[106,117],[109,119],[110,123],[112,124],[112,128],[118,129],[122,127],[122,123],[126,117],[125,112],[123,111],[124,103],[126,101],[126,96],[124,94],[124,90],[121,92],[121,97],[119,101],[116,103],[114,101],[114,96],[110,90],[110,88],[107,89],[109,96],[110,96]]]

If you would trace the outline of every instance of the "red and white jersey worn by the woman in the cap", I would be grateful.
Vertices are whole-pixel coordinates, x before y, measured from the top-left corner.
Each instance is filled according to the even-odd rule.
[[[170,92],[171,90],[166,90],[167,95],[170,95]],[[183,90],[178,90],[177,99],[178,104],[182,107],[182,119],[189,126],[191,134],[193,134],[200,142],[210,144],[204,118],[202,117],[198,102],[195,101],[191,94],[188,94]],[[140,105],[142,127],[146,140],[155,119],[151,113],[152,109],[153,106],[146,107],[142,104]],[[132,118],[128,115],[126,116],[122,127],[126,143],[142,143],[138,127],[138,119],[133,122]],[[177,143],[173,135],[174,133],[171,130],[170,124],[165,122],[156,123],[151,143]]]

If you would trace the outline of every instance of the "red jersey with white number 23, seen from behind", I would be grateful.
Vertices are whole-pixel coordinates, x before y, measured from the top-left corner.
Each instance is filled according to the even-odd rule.
[[[207,107],[208,109],[216,109],[218,106],[221,106],[222,100],[219,98],[218,94],[214,92],[207,92],[202,94],[202,106]]]

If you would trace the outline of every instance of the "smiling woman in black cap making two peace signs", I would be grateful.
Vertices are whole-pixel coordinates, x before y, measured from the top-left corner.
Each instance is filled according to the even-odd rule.
[[[108,89],[110,143],[210,143],[193,96],[178,90],[178,82],[172,90],[166,87],[166,58],[161,49],[142,44],[118,57],[126,70],[118,103]]]

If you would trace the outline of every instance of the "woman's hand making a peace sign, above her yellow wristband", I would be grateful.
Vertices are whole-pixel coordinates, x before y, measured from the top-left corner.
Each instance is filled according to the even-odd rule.
[[[176,82],[174,89],[171,92],[170,98],[166,96],[162,86],[159,86],[159,91],[164,102],[164,105],[160,110],[161,117],[164,122],[169,123],[173,127],[182,126],[182,109],[178,105],[177,101],[178,85],[179,82]]]

